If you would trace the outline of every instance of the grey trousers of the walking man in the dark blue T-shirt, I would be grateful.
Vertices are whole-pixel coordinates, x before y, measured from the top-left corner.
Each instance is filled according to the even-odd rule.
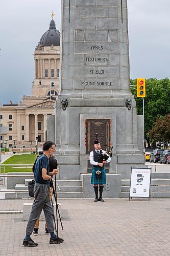
[[[40,217],[41,211],[43,209],[45,221],[47,224],[48,231],[54,232],[54,210],[50,202],[50,193],[49,193],[50,185],[48,184],[40,184],[35,182],[34,186],[34,203],[32,206],[30,218],[27,224],[26,234],[31,235],[36,220]]]

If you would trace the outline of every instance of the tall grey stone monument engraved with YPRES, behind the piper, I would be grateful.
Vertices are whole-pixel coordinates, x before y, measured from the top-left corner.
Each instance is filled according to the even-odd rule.
[[[127,0],[62,0],[61,7],[61,91],[47,119],[58,179],[80,180],[78,197],[94,196],[89,152],[98,133],[104,150],[113,146],[103,197],[119,198],[121,180],[144,165],[143,117],[130,90]]]

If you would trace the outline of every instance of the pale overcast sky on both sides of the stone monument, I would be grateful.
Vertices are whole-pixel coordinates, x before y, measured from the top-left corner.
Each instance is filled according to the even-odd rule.
[[[31,95],[33,53],[49,28],[52,10],[60,31],[60,0],[1,0],[0,104]],[[170,78],[169,10],[169,0],[128,0],[132,79]]]

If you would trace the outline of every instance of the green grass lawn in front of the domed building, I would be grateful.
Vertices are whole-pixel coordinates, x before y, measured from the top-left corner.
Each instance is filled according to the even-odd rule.
[[[7,159],[2,164],[34,164],[36,159],[36,154],[22,154],[22,155],[14,155]],[[1,173],[4,172],[4,166],[1,166]],[[13,173],[13,172],[32,172],[32,167],[16,167],[16,166],[5,166],[5,173]]]

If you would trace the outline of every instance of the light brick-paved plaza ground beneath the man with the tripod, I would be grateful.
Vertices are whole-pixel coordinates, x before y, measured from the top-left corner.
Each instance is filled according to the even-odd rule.
[[[0,200],[0,210],[21,210],[28,201]],[[22,214],[0,214],[0,255],[170,255],[170,199],[59,202],[63,244],[50,245],[40,222],[39,235],[32,236],[38,247],[24,247]]]

